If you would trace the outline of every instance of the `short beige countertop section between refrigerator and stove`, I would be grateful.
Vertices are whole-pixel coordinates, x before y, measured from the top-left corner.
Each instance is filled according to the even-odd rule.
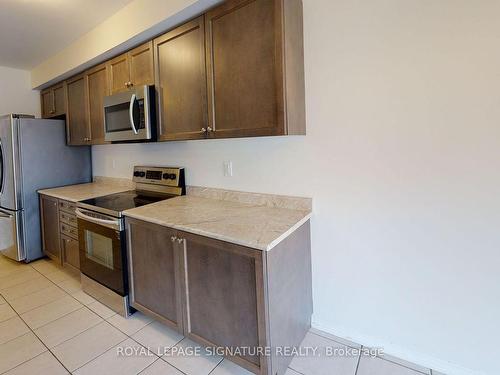
[[[133,189],[133,182],[124,179],[100,178],[88,184],[62,186],[53,189],[38,190],[40,194],[70,202],[100,197]]]

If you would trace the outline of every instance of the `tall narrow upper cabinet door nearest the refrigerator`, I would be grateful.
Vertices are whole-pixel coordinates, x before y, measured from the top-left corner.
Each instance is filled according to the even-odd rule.
[[[90,130],[87,118],[87,89],[84,75],[66,81],[66,98],[68,113],[66,126],[68,144],[90,144]]]

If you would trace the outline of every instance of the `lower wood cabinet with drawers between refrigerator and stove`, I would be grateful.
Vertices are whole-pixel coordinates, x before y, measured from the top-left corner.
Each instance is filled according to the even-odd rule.
[[[73,202],[40,194],[44,254],[63,266],[80,269],[75,209]]]

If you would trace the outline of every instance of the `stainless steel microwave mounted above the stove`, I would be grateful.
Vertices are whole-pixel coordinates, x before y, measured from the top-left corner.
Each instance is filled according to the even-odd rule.
[[[107,142],[156,139],[154,86],[138,86],[104,98],[104,139]]]

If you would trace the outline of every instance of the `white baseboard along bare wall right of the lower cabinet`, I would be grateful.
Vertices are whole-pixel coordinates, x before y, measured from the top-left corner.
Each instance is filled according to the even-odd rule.
[[[367,347],[383,348],[384,353],[390,356],[400,358],[403,361],[411,362],[416,364],[417,366],[429,368],[433,371],[438,371],[447,375],[488,375],[484,372],[471,370],[426,354],[416,353],[388,342],[382,342],[372,337],[361,335],[355,332],[347,332],[341,327],[327,326],[315,321],[314,317],[312,321],[312,327],[316,330],[323,331],[326,334],[337,336],[342,340],[346,340],[347,342],[353,342]]]

